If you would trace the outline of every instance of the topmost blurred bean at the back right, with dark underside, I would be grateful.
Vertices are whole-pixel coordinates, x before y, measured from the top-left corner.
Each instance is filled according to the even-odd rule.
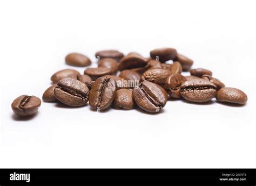
[[[150,51],[151,58],[161,62],[173,60],[176,55],[177,51],[174,48],[157,48]]]

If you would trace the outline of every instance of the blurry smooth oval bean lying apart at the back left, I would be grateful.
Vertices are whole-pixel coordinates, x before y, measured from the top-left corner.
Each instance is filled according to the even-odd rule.
[[[65,61],[68,65],[77,67],[86,67],[91,65],[91,60],[87,56],[78,53],[68,54]]]

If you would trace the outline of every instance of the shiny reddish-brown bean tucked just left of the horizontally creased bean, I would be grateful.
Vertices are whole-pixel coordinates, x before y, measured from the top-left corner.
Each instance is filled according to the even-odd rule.
[[[186,77],[181,74],[172,74],[165,81],[165,88],[169,90],[172,98],[180,98],[180,85],[187,81]]]

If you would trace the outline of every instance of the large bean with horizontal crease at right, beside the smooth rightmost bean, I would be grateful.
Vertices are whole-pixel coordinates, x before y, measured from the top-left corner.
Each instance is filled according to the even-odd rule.
[[[185,81],[180,89],[183,98],[196,103],[208,102],[216,95],[216,85],[201,78]]]

